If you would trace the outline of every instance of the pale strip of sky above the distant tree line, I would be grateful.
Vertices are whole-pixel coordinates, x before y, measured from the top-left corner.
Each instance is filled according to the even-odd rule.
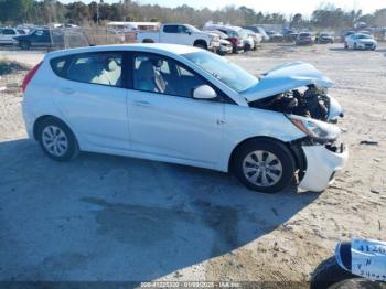
[[[60,0],[61,2],[73,2],[74,0]],[[225,6],[234,4],[236,7],[246,6],[256,11],[280,12],[283,14],[293,14],[300,12],[303,15],[311,15],[320,3],[329,2],[344,10],[362,9],[364,13],[372,13],[376,9],[386,8],[386,0],[135,0],[138,3],[160,4],[164,7],[178,7],[189,4],[194,8],[221,9]],[[83,2],[92,2],[84,0]],[[118,2],[118,0],[105,0],[105,2]]]

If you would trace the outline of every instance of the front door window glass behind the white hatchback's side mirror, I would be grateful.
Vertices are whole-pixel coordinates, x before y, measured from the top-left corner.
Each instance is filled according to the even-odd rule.
[[[206,82],[174,60],[157,54],[133,57],[133,89],[157,94],[192,97]]]

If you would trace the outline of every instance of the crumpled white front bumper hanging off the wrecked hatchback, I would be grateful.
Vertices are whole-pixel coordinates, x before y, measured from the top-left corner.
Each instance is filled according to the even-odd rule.
[[[343,144],[334,152],[325,146],[302,146],[307,170],[299,184],[302,191],[322,192],[334,182],[349,159],[349,149]]]

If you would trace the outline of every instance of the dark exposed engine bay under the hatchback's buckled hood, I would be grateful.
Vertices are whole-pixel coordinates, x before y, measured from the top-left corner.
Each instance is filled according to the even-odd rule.
[[[304,92],[293,89],[251,101],[249,106],[325,121],[329,118],[330,98],[323,88],[309,85]]]

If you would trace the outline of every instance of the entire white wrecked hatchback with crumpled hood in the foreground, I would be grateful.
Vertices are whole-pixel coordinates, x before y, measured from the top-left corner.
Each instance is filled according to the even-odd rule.
[[[323,191],[347,160],[331,85],[301,62],[255,77],[191,46],[95,46],[49,53],[23,82],[23,115],[57,161],[111,153],[233,172],[258,192]]]

